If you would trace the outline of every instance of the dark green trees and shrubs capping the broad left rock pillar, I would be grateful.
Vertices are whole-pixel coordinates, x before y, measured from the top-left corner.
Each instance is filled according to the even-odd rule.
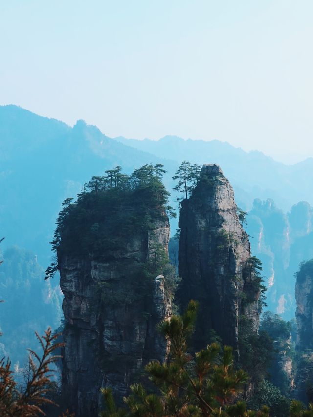
[[[130,176],[122,174],[119,166],[107,170],[105,176],[93,176],[77,201],[67,198],[63,202],[52,250],[59,257],[67,253],[100,259],[105,255],[109,259],[118,251],[123,253],[139,232],[153,241],[155,222],[166,215],[176,216],[161,181],[164,172],[161,164],[146,164]],[[45,279],[53,277],[58,269],[55,260],[47,268]]]

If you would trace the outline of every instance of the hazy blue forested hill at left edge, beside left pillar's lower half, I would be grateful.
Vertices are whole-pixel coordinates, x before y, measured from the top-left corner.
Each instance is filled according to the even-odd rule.
[[[62,300],[56,282],[43,283],[45,270],[34,253],[11,247],[0,259],[0,358],[9,356],[21,368],[26,349],[37,347],[34,330],[43,334],[48,326],[59,325]]]

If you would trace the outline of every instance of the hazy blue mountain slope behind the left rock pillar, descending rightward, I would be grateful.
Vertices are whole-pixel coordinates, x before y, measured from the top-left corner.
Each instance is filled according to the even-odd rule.
[[[126,172],[147,162],[176,163],[123,145],[82,120],[73,128],[28,110],[0,106],[0,233],[4,246],[17,244],[49,263],[61,202],[92,175],[121,165]]]

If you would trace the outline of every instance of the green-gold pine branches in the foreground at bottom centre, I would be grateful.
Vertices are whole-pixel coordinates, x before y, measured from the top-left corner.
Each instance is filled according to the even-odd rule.
[[[266,406],[253,411],[247,410],[245,402],[236,402],[248,378],[235,368],[231,347],[221,350],[219,344],[212,343],[195,355],[188,352],[197,307],[191,301],[184,314],[159,325],[170,342],[170,353],[167,362],[152,361],[146,366],[156,390],[148,393],[141,384],[132,385],[132,394],[124,398],[128,407],[123,409],[116,407],[112,391],[103,389],[106,411],[101,417],[269,417]]]

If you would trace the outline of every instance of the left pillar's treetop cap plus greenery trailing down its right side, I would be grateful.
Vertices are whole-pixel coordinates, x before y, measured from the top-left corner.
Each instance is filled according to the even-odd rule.
[[[132,305],[145,300],[149,306],[154,279],[160,274],[166,277],[166,296],[173,298],[178,277],[165,243],[155,232],[158,223],[167,224],[167,216],[176,216],[168,205],[164,172],[161,164],[146,164],[128,176],[118,166],[105,176],[93,176],[77,201],[67,198],[52,242],[57,259],[47,268],[45,279],[59,269],[58,260],[64,254],[83,260],[96,258],[112,262],[123,279],[118,288],[110,278],[99,281],[99,299],[105,304]],[[123,258],[129,250],[137,255]]]

